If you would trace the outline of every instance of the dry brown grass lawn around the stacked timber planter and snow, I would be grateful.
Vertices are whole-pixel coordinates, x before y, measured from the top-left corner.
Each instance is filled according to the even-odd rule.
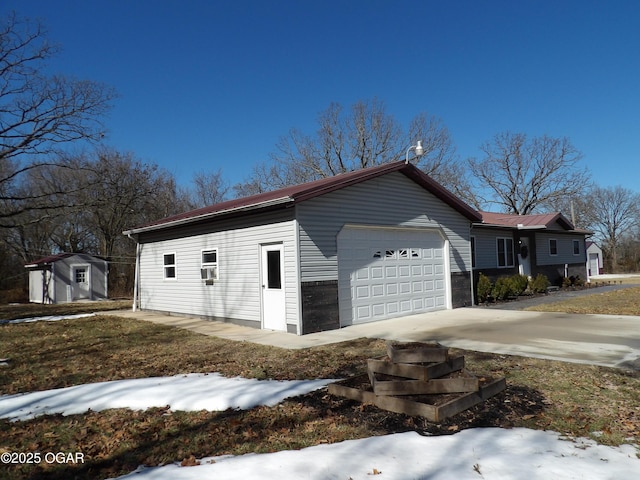
[[[41,307],[37,314],[49,312]],[[0,315],[9,314],[0,308]],[[0,356],[11,358],[9,367],[0,368],[3,394],[188,372],[339,378],[363,373],[367,358],[385,352],[384,342],[370,339],[284,350],[109,315],[2,324],[0,330]],[[639,372],[459,353],[466,356],[470,371],[504,376],[508,387],[439,424],[333,397],[326,390],[249,411],[117,409],[0,420],[0,452],[81,452],[86,460],[82,465],[0,466],[0,477],[106,478],[140,464],[189,461],[192,456],[272,452],[407,430],[450,434],[479,426],[550,429],[614,445],[640,442]]]

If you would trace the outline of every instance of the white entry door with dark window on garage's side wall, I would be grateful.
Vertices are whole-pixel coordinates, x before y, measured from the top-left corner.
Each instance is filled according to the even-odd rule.
[[[284,247],[281,243],[260,247],[262,268],[262,328],[287,330],[284,296]]]

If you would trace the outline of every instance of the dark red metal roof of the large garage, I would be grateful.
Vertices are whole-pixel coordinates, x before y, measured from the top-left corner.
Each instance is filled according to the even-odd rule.
[[[385,163],[371,168],[363,168],[353,172],[342,173],[333,177],[327,177],[313,182],[302,183],[290,187],[281,188],[271,192],[260,193],[249,197],[236,198],[226,202],[217,203],[197,210],[173,215],[139,227],[132,228],[124,232],[127,234],[142,233],[150,230],[157,230],[191,223],[199,220],[206,220],[216,216],[226,214],[238,214],[241,212],[254,211],[269,207],[285,207],[319,197],[341,188],[349,187],[373,178],[386,175],[392,172],[400,172],[410,178],[418,185],[428,190],[440,200],[457,210],[459,213],[472,221],[480,221],[479,213],[464,203],[458,197],[449,192],[442,185],[437,183],[427,174],[418,169],[415,165],[404,161]]]

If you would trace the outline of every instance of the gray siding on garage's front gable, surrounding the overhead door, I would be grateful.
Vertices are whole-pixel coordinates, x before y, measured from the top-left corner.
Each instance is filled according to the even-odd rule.
[[[470,221],[401,173],[307,200],[296,216],[304,282],[337,280],[336,239],[346,224],[438,228],[450,244],[450,272],[471,270]]]

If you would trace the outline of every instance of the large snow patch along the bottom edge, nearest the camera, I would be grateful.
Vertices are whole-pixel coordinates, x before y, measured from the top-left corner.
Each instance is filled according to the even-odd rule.
[[[213,463],[215,462],[215,463]],[[119,480],[569,480],[640,477],[630,445],[597,445],[524,428],[477,428],[455,435],[398,433],[299,451],[212,457],[199,466],[139,468]]]

